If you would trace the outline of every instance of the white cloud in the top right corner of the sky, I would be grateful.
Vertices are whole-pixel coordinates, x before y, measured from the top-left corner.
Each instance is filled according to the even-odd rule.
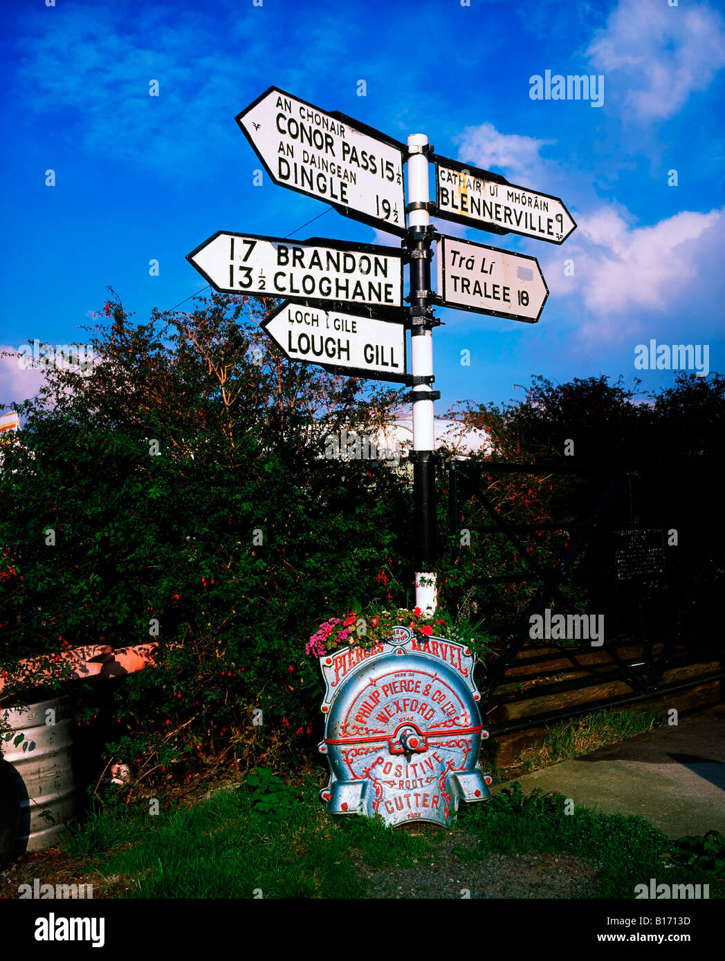
[[[725,66],[725,23],[707,4],[619,0],[587,56],[639,120],[674,116]]]

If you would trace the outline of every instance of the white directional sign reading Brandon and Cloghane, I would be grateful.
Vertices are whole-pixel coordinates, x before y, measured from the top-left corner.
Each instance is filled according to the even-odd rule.
[[[395,247],[218,231],[187,259],[220,293],[403,306],[403,255]]]

